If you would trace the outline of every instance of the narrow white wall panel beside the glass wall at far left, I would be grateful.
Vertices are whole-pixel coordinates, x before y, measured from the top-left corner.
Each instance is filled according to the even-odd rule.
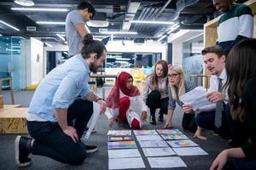
[[[44,43],[31,37],[26,40],[26,87],[44,77]]]

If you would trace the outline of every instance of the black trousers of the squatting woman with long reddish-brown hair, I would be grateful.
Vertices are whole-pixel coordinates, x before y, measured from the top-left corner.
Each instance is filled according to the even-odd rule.
[[[153,90],[148,94],[146,104],[150,109],[150,115],[155,116],[155,110],[160,108],[160,115],[167,114],[169,98],[161,99],[161,94],[158,90]]]

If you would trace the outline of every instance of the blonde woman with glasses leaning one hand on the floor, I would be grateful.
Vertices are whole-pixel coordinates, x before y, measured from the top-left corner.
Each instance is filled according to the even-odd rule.
[[[183,129],[191,132],[196,131],[195,112],[192,110],[191,105],[184,105],[178,98],[179,96],[189,92],[196,87],[194,82],[185,81],[184,71],[180,66],[173,65],[168,71],[168,81],[170,88],[168,88],[169,105],[166,118],[166,125],[164,128],[172,127],[172,115],[176,108],[176,102],[183,110]]]

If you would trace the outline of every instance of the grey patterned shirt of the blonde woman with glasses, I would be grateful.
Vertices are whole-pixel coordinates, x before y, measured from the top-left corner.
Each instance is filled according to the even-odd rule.
[[[189,91],[196,88],[195,82],[185,81],[184,83],[185,83],[185,93],[188,93]],[[175,99],[172,99],[172,91],[170,87],[168,88],[168,96],[169,96],[168,109],[174,110],[176,108],[176,102],[179,106],[183,107],[183,102],[178,99],[178,96],[177,96],[177,101]]]

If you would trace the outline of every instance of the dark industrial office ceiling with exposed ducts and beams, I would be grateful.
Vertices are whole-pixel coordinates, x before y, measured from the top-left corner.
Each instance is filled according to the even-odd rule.
[[[0,21],[0,33],[22,37],[40,37],[49,41],[59,41],[57,33],[63,34],[63,25],[41,25],[37,21],[65,22],[69,11],[76,8],[78,0],[33,0],[31,8],[67,8],[66,12],[20,11],[11,8],[22,8],[14,0],[1,0],[0,20],[15,26],[15,31],[4,26]],[[90,27],[90,32],[99,37],[108,35],[99,31],[136,31],[136,35],[114,35],[119,39],[137,39],[138,41],[170,33],[172,25],[152,25],[131,23],[130,20],[174,21],[178,29],[202,29],[207,20],[213,19],[212,0],[93,0],[96,16],[93,20],[107,20],[108,27]],[[101,24],[101,23],[100,23]],[[27,26],[36,31],[27,31]],[[177,31],[176,30],[176,31]]]

